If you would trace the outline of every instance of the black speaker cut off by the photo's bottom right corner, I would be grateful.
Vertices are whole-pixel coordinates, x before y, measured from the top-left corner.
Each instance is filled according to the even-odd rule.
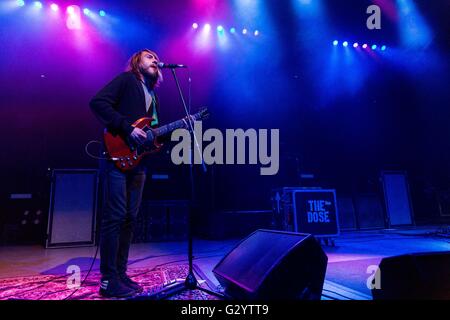
[[[379,272],[374,300],[450,299],[450,251],[384,258]]]

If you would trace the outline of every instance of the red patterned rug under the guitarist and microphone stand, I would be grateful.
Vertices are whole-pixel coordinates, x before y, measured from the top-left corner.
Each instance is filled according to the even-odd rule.
[[[164,285],[182,281],[189,271],[188,265],[169,265],[149,269],[130,269],[127,273],[144,287],[144,293],[158,292]],[[81,273],[81,281],[86,276]],[[73,288],[70,274],[38,275],[0,279],[0,300],[112,300],[99,295],[100,273],[91,271],[84,284]],[[215,296],[200,290],[185,291],[170,300],[216,300]]]

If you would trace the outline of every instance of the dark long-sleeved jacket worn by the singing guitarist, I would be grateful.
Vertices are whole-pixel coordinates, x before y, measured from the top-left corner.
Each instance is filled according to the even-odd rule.
[[[159,119],[159,101],[156,97]],[[89,103],[92,112],[111,133],[130,135],[136,120],[151,116],[146,112],[144,89],[132,72],[123,72],[101,89]]]

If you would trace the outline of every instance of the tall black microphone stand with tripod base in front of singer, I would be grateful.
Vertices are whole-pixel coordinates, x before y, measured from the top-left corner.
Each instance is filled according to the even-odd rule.
[[[191,121],[191,118],[190,118],[189,110],[188,110],[188,108],[186,106],[186,102],[185,102],[184,97],[183,97],[183,92],[181,91],[180,83],[178,82],[178,77],[177,77],[177,74],[175,72],[175,67],[171,67],[170,69],[172,71],[175,83],[176,83],[177,88],[178,88],[178,93],[179,93],[181,102],[183,104],[184,111],[186,113],[186,117],[187,117],[187,121],[186,122],[188,123],[189,130],[191,131],[192,136],[194,138],[194,144],[195,144],[195,146],[197,148],[197,152],[199,152],[199,154],[201,155],[202,153],[201,153],[201,150],[200,150],[200,146],[198,145],[197,136],[196,136],[194,128],[192,126],[192,121]],[[189,77],[189,81],[190,80],[191,79]],[[216,296],[216,297],[219,297],[219,298],[222,298],[222,299],[225,298],[225,296],[222,295],[221,293],[214,292],[212,290],[208,290],[206,288],[200,287],[198,282],[197,282],[197,279],[196,279],[196,277],[194,275],[193,263],[192,263],[192,260],[193,260],[193,250],[192,250],[192,242],[193,242],[192,241],[192,211],[193,211],[193,207],[194,207],[194,204],[195,204],[195,196],[196,196],[196,194],[195,194],[195,183],[194,183],[194,155],[193,155],[192,151],[193,151],[193,148],[191,146],[191,152],[190,152],[190,160],[191,161],[190,161],[190,164],[189,164],[189,173],[190,173],[190,180],[191,180],[191,204],[189,206],[188,219],[187,219],[188,220],[188,260],[189,260],[189,272],[188,272],[188,275],[187,275],[186,279],[184,280],[184,283],[177,283],[175,285],[170,285],[169,284],[170,288],[168,288],[167,290],[162,290],[161,292],[158,292],[158,293],[147,294],[147,298],[149,298],[149,299],[155,299],[155,300],[166,299],[166,298],[168,298],[170,296],[182,293],[184,291],[192,291],[192,290],[200,290],[200,291],[206,292],[206,293],[208,293],[210,295],[213,295],[213,296]],[[201,157],[201,159],[202,159],[203,171],[206,172],[206,165],[205,165],[205,163],[203,161],[203,157]],[[141,296],[141,298],[142,298],[142,296]]]

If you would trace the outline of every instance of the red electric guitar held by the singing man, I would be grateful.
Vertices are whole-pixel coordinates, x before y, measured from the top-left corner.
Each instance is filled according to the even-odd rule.
[[[209,115],[208,109],[202,109],[191,118],[203,120]],[[132,124],[133,127],[144,130],[147,133],[147,142],[140,145],[131,142],[122,135],[113,134],[105,129],[104,140],[106,150],[117,168],[126,172],[135,168],[142,158],[150,153],[158,152],[162,147],[161,136],[167,135],[179,128],[188,128],[188,119],[174,121],[161,127],[152,127],[153,118],[141,118]]]

